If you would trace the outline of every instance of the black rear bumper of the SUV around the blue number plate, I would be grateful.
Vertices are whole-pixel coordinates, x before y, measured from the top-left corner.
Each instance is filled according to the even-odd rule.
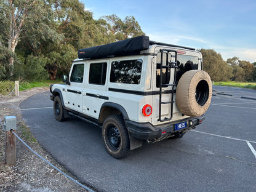
[[[168,122],[159,126],[153,126],[150,122],[138,123],[126,120],[126,125],[129,133],[135,138],[142,140],[161,140],[161,138],[166,138],[168,135],[175,134],[175,132],[191,129],[194,126],[201,124],[201,122],[204,121],[205,118],[205,114],[202,114],[202,116],[199,116],[197,118],[186,118],[182,119],[182,121]],[[184,129],[180,129],[177,131],[174,130],[175,124],[185,121],[187,126]]]

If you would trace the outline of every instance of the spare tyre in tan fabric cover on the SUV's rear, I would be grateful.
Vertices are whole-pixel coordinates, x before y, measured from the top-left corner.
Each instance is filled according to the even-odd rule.
[[[198,117],[206,113],[212,99],[212,81],[206,71],[186,71],[178,81],[176,103],[185,115]]]

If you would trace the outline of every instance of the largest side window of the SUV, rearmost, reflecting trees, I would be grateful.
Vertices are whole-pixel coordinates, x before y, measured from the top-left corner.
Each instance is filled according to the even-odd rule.
[[[123,60],[111,63],[110,82],[140,84],[142,60]]]

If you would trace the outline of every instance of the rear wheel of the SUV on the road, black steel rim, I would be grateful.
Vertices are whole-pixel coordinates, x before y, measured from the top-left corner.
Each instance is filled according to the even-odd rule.
[[[114,114],[105,119],[102,138],[106,151],[116,159],[125,158],[130,152],[129,134],[122,116]]]

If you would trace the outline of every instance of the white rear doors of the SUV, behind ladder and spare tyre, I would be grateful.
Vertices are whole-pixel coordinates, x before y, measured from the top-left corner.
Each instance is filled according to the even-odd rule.
[[[159,94],[160,91],[160,78],[161,78],[161,70],[160,70],[160,63],[161,63],[161,50],[162,49],[173,49],[171,47],[164,48],[164,47],[156,47],[155,53],[156,57],[154,58],[154,65],[153,65],[153,76],[155,79],[153,80],[153,124],[160,124],[161,121],[164,119],[169,119],[172,116],[172,121],[183,119],[182,113],[177,108],[175,103],[175,92],[176,86],[174,86],[174,95],[173,95],[173,106],[171,108],[171,103],[168,103],[172,100],[172,87],[173,86],[162,86],[162,94]],[[178,83],[178,80],[181,78],[182,74],[189,70],[201,70],[202,58],[200,57],[199,52],[194,52],[190,50],[177,50],[177,73],[175,76],[174,82],[174,68],[162,68],[162,84],[174,84]],[[164,52],[162,54],[162,63],[172,63],[175,62],[175,52]],[[170,65],[170,64],[169,64]],[[159,101],[163,104],[159,104]],[[166,102],[166,104],[164,104]],[[161,110],[161,121],[159,121],[159,110]],[[168,122],[168,121],[167,121]]]

